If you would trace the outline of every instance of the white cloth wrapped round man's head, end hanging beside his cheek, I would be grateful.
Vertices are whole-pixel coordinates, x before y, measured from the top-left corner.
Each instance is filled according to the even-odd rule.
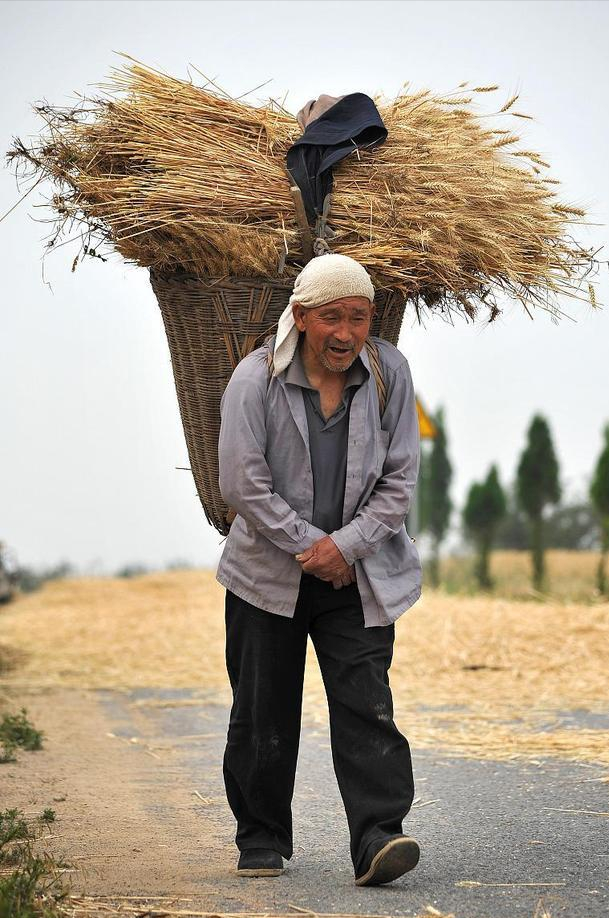
[[[312,258],[296,278],[294,292],[279,319],[273,376],[285,370],[298,344],[298,328],[292,312],[294,303],[312,309],[343,296],[364,296],[374,302],[374,287],[364,266],[348,255],[329,253]]]

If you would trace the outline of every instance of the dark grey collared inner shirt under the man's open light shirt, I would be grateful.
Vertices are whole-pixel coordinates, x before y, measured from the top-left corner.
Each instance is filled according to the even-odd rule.
[[[340,529],[343,519],[345,480],[347,475],[347,444],[349,410],[355,389],[365,378],[366,371],[356,357],[346,371],[345,388],[340,405],[327,420],[321,410],[319,390],[308,380],[302,360],[302,335],[294,357],[285,372],[288,385],[300,386],[307,413],[309,449],[313,471],[313,519],[324,532]]]

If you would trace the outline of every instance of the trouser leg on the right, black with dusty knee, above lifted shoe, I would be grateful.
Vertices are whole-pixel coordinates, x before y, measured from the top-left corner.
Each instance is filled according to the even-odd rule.
[[[395,626],[364,628],[356,584],[340,590],[318,584],[310,633],[328,697],[332,759],[358,875],[372,841],[402,832],[414,797],[410,746],[393,721],[389,687]]]

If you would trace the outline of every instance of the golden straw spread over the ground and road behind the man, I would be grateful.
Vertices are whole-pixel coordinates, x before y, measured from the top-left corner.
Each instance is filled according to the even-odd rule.
[[[4,685],[183,687],[227,702],[223,597],[205,571],[49,583],[2,613],[3,643],[21,654]],[[583,729],[572,712],[606,713],[608,644],[606,602],[531,603],[427,590],[396,624],[390,676],[396,721],[415,749],[607,766],[609,731]],[[306,721],[325,730],[326,700],[311,647],[304,706]]]

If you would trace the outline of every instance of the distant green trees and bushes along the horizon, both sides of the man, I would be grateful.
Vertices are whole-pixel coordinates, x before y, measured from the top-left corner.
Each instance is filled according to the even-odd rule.
[[[448,455],[444,412],[434,417],[436,437],[431,452],[423,453],[419,475],[419,529],[431,537],[429,576],[440,583],[440,549],[448,535],[454,506],[450,497],[452,464]],[[473,482],[462,509],[462,528],[476,551],[475,573],[483,589],[492,587],[490,557],[494,548],[528,550],[532,558],[533,585],[545,588],[546,548],[599,550],[597,584],[609,595],[609,424],[603,431],[603,446],[593,470],[589,502],[561,505],[559,466],[547,421],[535,415],[527,431],[525,447],[511,489],[502,487],[495,464],[481,482]],[[166,570],[189,568],[174,561]],[[128,564],[116,571],[118,577],[137,577],[150,568]],[[74,575],[67,562],[45,569],[17,565],[0,542],[0,603],[15,592],[29,592],[48,580]]]

